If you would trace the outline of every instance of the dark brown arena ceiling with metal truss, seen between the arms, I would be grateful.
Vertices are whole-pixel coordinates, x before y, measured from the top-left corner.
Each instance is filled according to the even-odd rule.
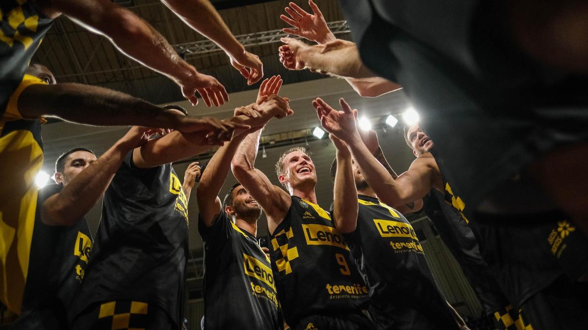
[[[200,72],[215,76],[229,93],[258,87],[259,84],[247,86],[246,80],[229,65],[228,56],[222,50],[215,50],[215,47],[211,47],[212,43],[206,43],[203,36],[183,23],[161,1],[115,2],[149,22],[189,63]],[[295,2],[310,11],[308,2]],[[246,49],[262,59],[266,75],[284,75],[288,71],[278,61],[278,47],[281,44],[279,34],[283,34],[279,30],[287,26],[279,16],[289,1],[218,0],[212,3],[233,34],[246,45]],[[321,0],[317,3],[326,21],[342,22],[344,18],[336,0]],[[345,28],[339,30],[346,31]],[[350,33],[339,33],[338,36],[348,39]],[[48,66],[58,82],[107,87],[155,104],[182,99],[178,86],[171,80],[126,58],[108,39],[89,32],[64,16],[56,19],[33,61]],[[289,73],[285,83],[322,78],[308,70]]]

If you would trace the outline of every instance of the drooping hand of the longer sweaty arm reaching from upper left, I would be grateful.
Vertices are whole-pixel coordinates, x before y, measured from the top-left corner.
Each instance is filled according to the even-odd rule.
[[[182,87],[182,94],[192,103],[193,106],[198,104],[196,92],[202,96],[206,106],[211,107],[223,105],[229,100],[229,94],[225,86],[221,85],[216,78],[202,73],[195,73],[192,79],[186,82],[178,82]]]

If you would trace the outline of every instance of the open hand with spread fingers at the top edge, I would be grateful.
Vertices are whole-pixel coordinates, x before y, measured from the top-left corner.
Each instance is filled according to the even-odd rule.
[[[320,12],[319,7],[312,0],[309,0],[308,4],[313,14],[309,14],[294,2],[290,2],[290,7],[285,8],[286,13],[290,17],[282,14],[280,18],[296,29],[284,28],[282,31],[291,35],[301,36],[316,43],[335,40],[335,35],[330,32],[325,17]]]

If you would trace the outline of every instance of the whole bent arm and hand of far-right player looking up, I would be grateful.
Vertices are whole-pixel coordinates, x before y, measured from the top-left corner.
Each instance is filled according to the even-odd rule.
[[[410,169],[400,175],[396,180],[376,160],[368,147],[363,143],[355,126],[355,116],[345,100],[339,100],[343,111],[337,111],[326,104],[322,99],[313,102],[315,109],[321,117],[321,124],[329,133],[335,134],[349,147],[353,159],[355,159],[369,186],[375,191],[380,200],[390,206],[399,206],[418,200],[426,195],[432,188],[433,171],[426,157],[417,158]],[[332,127],[342,127],[333,130]],[[332,131],[332,132],[331,132]]]

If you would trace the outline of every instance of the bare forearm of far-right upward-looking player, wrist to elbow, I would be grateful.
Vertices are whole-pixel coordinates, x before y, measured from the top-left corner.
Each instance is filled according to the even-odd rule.
[[[361,138],[356,137],[348,143],[348,146],[353,159],[358,162],[363,176],[376,195],[388,205],[403,204],[401,191],[392,174],[376,160]]]

